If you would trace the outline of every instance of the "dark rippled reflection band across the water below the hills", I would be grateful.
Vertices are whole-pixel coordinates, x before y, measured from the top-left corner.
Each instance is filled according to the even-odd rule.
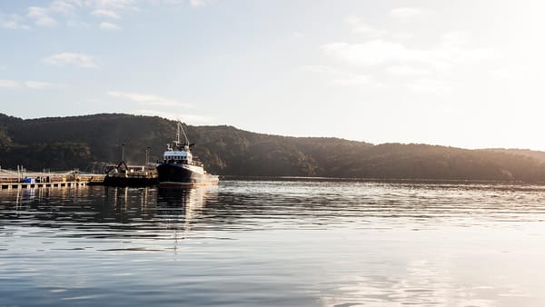
[[[422,229],[444,223],[471,226],[476,221],[509,222],[503,226],[514,227],[542,221],[543,203],[543,186],[523,184],[225,182],[220,190],[0,191],[3,224],[133,230],[135,236],[154,235],[155,229],[173,223],[202,231],[322,229],[346,224]]]

